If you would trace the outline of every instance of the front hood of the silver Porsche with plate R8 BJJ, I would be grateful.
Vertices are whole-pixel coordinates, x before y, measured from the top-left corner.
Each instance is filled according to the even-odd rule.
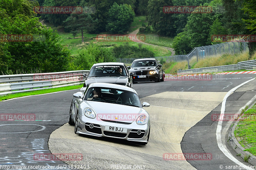
[[[142,112],[140,107],[88,100],[85,102],[96,112],[96,118],[99,120],[132,123]]]

